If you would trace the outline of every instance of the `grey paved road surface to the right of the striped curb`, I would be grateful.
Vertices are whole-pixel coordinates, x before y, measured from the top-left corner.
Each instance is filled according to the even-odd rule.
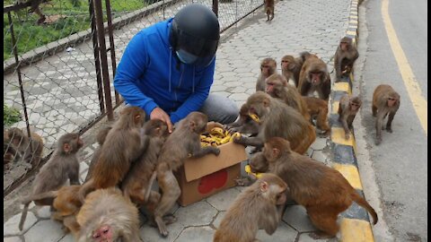
[[[422,127],[414,109],[425,110],[418,106],[418,98],[427,103],[427,1],[389,1],[387,13],[408,61],[400,66],[396,61],[400,50],[392,52],[389,44],[396,38],[393,35],[388,38],[385,30],[386,10],[382,8],[385,3],[385,0],[365,1],[365,7],[360,8],[359,62],[362,63],[356,64],[359,82],[354,92],[360,91],[365,102],[360,121],[356,120],[355,125],[361,152],[358,160],[367,170],[365,173],[369,173],[361,171],[361,176],[375,177],[377,186],[372,194],[381,202],[383,220],[374,229],[376,241],[427,241],[427,127]],[[419,90],[405,84],[406,77],[400,70],[405,71],[408,66]],[[383,131],[383,143],[375,146],[371,100],[374,88],[380,83],[391,84],[400,93],[401,105],[392,123],[394,132]]]

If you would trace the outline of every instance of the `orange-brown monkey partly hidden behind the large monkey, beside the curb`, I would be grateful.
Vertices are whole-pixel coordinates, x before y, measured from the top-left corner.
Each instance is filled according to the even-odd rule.
[[[312,119],[316,119],[316,126],[321,129],[323,135],[330,133],[328,123],[328,102],[314,97],[302,97],[307,105],[308,113]]]

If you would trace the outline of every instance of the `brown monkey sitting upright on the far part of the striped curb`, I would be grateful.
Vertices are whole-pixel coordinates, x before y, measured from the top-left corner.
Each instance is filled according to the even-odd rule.
[[[359,53],[352,44],[352,39],[344,37],[339,41],[339,47],[334,56],[334,67],[337,76],[335,82],[340,81],[343,73],[348,76],[358,56]]]

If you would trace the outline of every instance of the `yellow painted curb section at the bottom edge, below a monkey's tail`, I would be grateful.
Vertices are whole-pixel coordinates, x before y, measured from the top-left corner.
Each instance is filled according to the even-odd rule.
[[[340,234],[342,242],[374,242],[371,225],[365,220],[342,219]]]

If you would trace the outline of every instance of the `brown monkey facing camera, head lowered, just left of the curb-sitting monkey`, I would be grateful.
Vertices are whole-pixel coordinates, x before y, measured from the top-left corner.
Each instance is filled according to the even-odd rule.
[[[319,98],[330,98],[330,73],[327,65],[315,55],[304,57],[305,61],[299,74],[298,91],[303,96],[317,91]]]

